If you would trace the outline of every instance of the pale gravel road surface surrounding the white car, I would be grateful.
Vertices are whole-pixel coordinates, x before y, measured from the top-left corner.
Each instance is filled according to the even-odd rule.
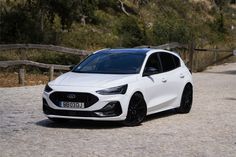
[[[0,88],[0,157],[235,157],[236,63],[193,78],[191,113],[158,113],[138,127],[54,124],[41,110],[43,86]]]

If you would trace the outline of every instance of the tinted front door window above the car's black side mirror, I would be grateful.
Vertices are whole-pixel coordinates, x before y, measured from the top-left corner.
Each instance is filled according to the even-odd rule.
[[[149,56],[147,63],[145,65],[146,68],[155,68],[157,69],[157,73],[161,72],[161,64],[158,59],[157,53],[153,53]]]

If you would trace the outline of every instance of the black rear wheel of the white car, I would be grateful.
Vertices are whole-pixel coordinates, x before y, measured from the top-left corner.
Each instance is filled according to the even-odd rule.
[[[193,103],[193,88],[191,84],[187,84],[184,88],[180,107],[176,109],[178,113],[189,113]]]

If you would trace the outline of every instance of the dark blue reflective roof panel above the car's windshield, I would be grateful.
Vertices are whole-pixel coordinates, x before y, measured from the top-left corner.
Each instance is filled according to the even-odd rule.
[[[134,53],[134,54],[146,54],[150,51],[150,48],[120,48],[120,49],[103,49],[96,53]]]

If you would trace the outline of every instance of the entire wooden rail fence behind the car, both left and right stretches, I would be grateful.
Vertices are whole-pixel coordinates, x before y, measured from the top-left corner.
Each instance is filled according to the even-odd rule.
[[[220,49],[199,49],[195,48],[193,43],[188,45],[183,45],[177,42],[167,43],[164,45],[159,46],[138,46],[139,48],[155,48],[155,49],[167,49],[167,50],[179,50],[184,52],[182,54],[182,58],[185,60],[185,63],[188,65],[189,69],[192,71],[201,71],[204,70],[207,66],[216,64],[221,62],[224,59],[227,59],[233,56],[233,50],[220,50]],[[49,50],[55,51],[59,53],[66,53],[66,54],[74,54],[78,56],[88,56],[91,52],[86,50],[79,50],[74,48],[67,48],[55,45],[42,45],[42,44],[0,44],[0,54],[2,52],[9,52],[7,50],[19,49],[21,52],[21,60],[10,60],[10,61],[0,61],[0,67],[6,68],[10,66],[20,65],[21,68],[19,70],[19,84],[25,84],[25,66],[35,66],[40,68],[49,69],[49,80],[53,80],[54,70],[65,70],[68,71],[70,69],[70,65],[56,65],[56,64],[46,64],[46,63],[39,63],[27,60],[26,58],[26,50],[28,49],[42,49],[42,50]],[[220,52],[230,52],[227,56],[222,58],[216,58],[210,62],[209,64],[203,65],[201,67],[194,67],[194,54],[199,52],[214,52],[215,54]]]

